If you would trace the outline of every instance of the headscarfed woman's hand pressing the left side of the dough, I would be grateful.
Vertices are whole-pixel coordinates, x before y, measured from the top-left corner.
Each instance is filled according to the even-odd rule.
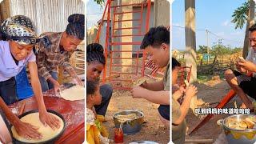
[[[17,131],[18,135],[22,136],[26,139],[41,139],[42,134],[38,132],[38,127],[33,126],[29,123],[22,122],[21,120],[18,120],[18,122],[15,122],[14,128]]]

